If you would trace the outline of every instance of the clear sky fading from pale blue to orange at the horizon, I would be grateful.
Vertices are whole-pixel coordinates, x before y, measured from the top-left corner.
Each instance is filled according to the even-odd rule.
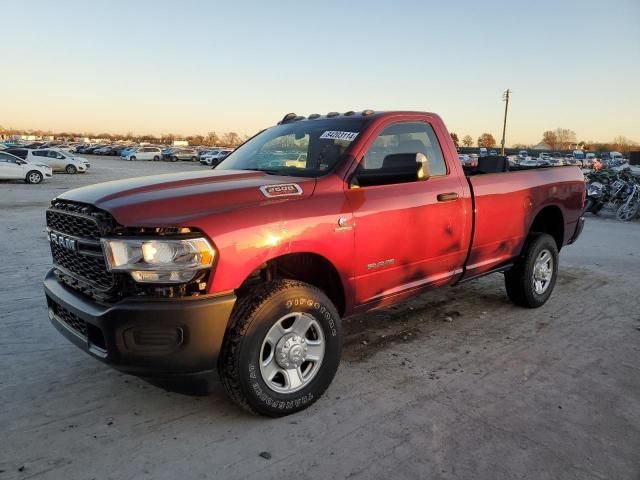
[[[640,0],[0,0],[0,125],[252,134],[287,112],[424,110],[535,144],[640,142]]]

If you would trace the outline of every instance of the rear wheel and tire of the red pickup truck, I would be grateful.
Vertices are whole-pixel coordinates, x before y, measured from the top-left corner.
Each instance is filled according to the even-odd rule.
[[[551,235],[529,235],[520,258],[504,274],[507,295],[522,307],[538,308],[551,296],[558,277],[558,246]]]

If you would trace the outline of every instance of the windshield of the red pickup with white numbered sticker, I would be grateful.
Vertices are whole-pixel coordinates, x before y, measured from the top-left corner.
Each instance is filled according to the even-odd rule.
[[[369,120],[342,117],[278,125],[232,152],[216,169],[318,177],[338,163]]]

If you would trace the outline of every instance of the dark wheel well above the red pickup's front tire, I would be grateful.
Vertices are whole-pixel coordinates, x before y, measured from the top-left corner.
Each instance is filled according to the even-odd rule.
[[[318,287],[333,302],[340,315],[344,314],[345,294],[342,280],[336,268],[326,258],[315,253],[291,253],[273,258],[249,275],[239,290],[276,278],[300,280]]]

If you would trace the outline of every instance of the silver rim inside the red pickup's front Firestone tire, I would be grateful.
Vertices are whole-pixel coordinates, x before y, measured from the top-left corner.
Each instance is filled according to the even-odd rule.
[[[260,374],[278,393],[293,393],[316,376],[325,353],[324,333],[311,314],[292,312],[279,318],[260,348]]]

